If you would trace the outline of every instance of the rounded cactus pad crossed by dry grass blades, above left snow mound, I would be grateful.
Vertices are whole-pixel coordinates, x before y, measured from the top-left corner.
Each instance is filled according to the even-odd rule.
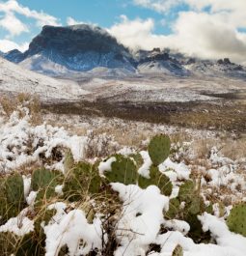
[[[76,201],[88,193],[98,193],[100,184],[101,180],[96,166],[87,162],[79,162],[68,171],[63,191],[69,201]]]

